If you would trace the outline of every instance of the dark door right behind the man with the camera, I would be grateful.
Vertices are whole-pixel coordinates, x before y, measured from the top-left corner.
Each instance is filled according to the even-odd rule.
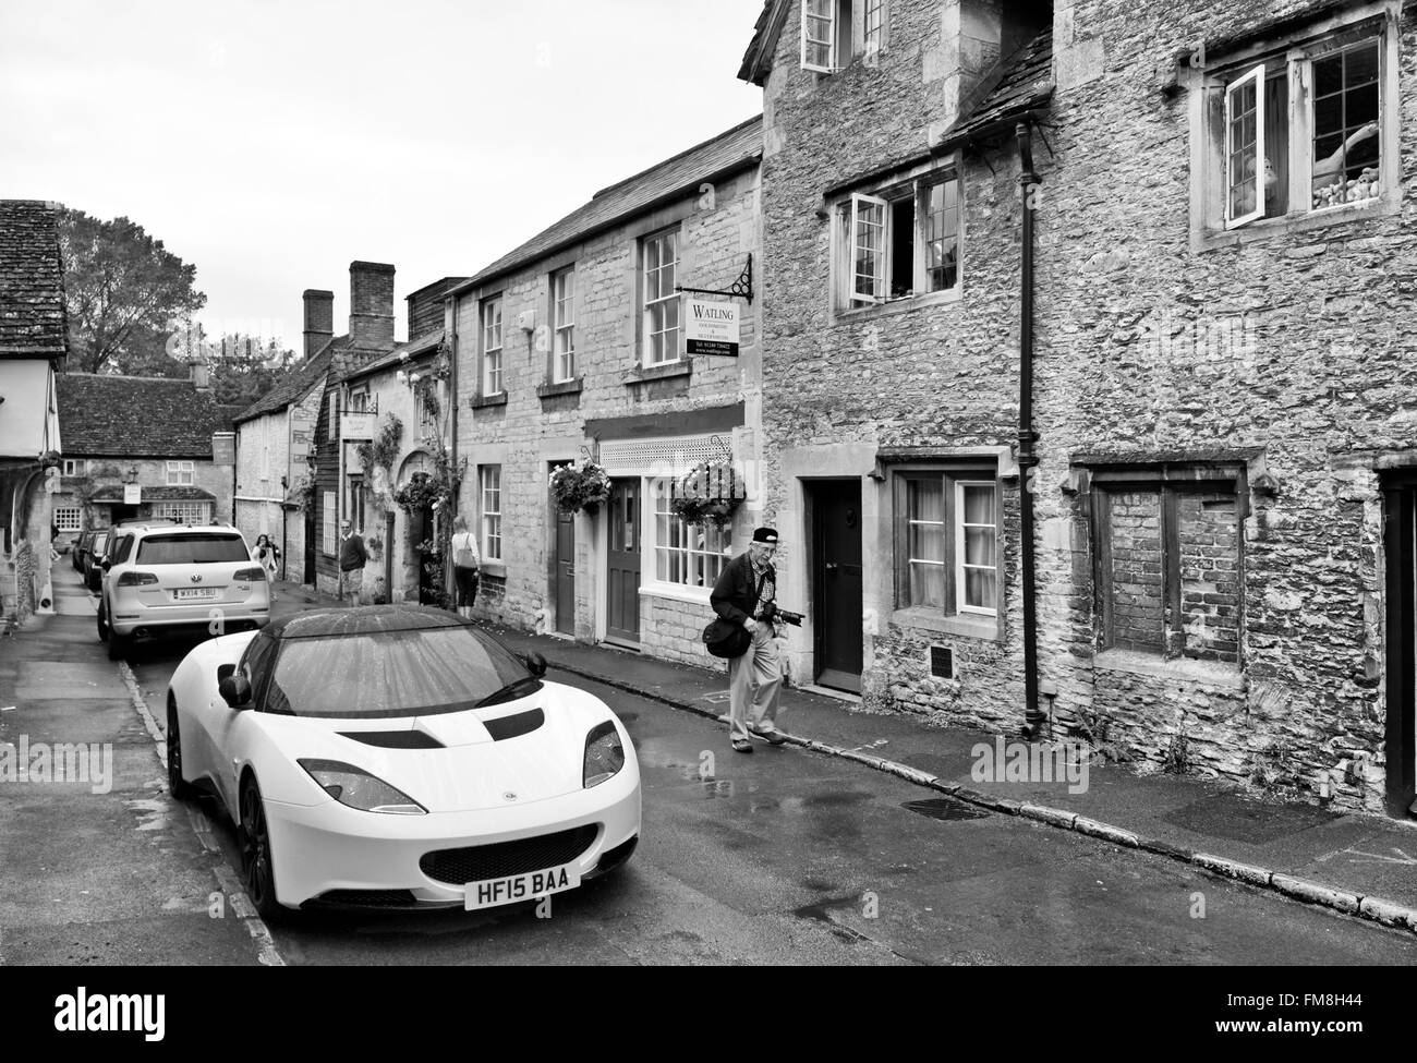
[[[862,482],[812,489],[816,682],[862,690]],[[784,602],[786,605],[786,602]],[[791,608],[791,607],[789,607]]]

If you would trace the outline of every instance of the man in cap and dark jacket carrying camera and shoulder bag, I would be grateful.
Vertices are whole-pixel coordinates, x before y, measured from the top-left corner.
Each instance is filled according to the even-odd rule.
[[[764,617],[764,611],[778,592],[778,574],[772,567],[772,554],[777,549],[777,530],[757,529],[747,553],[738,554],[723,567],[713,594],[708,595],[714,612],[730,624],[741,624],[752,636],[745,653],[728,658],[728,734],[733,748],[738,753],[752,753],[750,733],[767,738],[774,746],[786,741],[777,726],[778,700],[782,693],[778,632],[775,622]]]

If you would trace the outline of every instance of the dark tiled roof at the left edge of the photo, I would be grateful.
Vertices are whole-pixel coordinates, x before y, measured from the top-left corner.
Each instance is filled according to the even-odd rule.
[[[0,359],[68,354],[60,207],[0,200]]]

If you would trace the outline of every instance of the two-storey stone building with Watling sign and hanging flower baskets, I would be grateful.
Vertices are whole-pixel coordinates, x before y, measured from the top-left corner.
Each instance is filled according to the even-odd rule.
[[[451,289],[480,615],[711,660],[708,591],[760,507],[761,133],[744,122],[604,189]],[[696,353],[696,300],[700,315],[735,313],[737,357]],[[551,472],[591,461],[609,499],[560,512]],[[740,499],[724,529],[674,509],[676,480],[700,463],[733,469],[714,488]]]

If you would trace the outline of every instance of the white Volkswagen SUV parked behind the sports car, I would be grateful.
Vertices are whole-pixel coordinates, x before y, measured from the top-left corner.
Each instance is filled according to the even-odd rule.
[[[145,635],[227,635],[269,622],[265,570],[237,529],[157,522],[113,529],[98,605],[109,659]]]

